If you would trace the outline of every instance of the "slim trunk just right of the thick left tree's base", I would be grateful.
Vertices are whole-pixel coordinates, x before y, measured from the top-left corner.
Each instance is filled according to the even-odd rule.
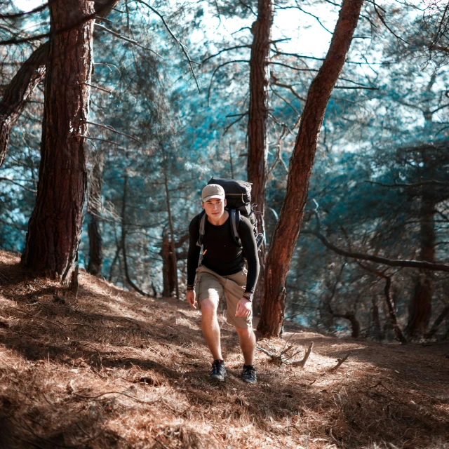
[[[101,210],[102,210],[102,173],[104,155],[100,152],[94,154],[94,164],[91,173],[91,182],[87,200],[88,236],[89,236],[89,264],[88,273],[100,276],[103,266],[103,243],[101,237]]]

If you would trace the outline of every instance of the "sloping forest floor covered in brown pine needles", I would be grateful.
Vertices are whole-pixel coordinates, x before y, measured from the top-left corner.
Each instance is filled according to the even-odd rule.
[[[304,368],[257,351],[208,380],[199,313],[80,274],[78,297],[0,252],[0,448],[449,448],[449,344],[376,344],[287,326]],[[269,346],[267,346],[269,344]],[[337,358],[349,358],[332,370]],[[302,358],[298,354],[295,359]]]

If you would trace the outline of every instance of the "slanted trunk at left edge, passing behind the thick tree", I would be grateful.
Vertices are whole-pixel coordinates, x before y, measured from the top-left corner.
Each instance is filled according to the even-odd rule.
[[[119,0],[97,0],[95,11],[106,17]],[[8,151],[9,134],[31,98],[34,89],[45,75],[50,42],[43,43],[29,56],[6,87],[0,102],[0,167]]]

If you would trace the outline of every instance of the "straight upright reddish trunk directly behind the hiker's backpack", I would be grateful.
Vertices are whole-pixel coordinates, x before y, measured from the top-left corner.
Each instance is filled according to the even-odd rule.
[[[248,180],[253,184],[251,199],[257,203],[257,227],[265,235],[265,190],[267,188],[267,120],[269,84],[269,44],[273,23],[272,0],[259,0],[253,23],[250,55],[250,103],[248,113]],[[254,313],[260,311],[264,296],[265,246],[259,251],[260,272],[255,291]]]

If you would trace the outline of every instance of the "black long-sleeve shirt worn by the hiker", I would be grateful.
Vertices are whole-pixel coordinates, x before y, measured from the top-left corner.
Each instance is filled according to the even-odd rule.
[[[196,215],[189,225],[189,254],[187,255],[187,283],[193,284],[198,267],[200,247],[196,245],[199,239],[199,222],[201,215]],[[203,265],[220,276],[229,276],[241,271],[248,263],[246,292],[254,293],[257,277],[259,276],[259,257],[253,233],[253,225],[248,218],[241,216],[239,236],[242,246],[232,238],[231,216],[225,223],[215,226],[206,217],[203,236]]]

